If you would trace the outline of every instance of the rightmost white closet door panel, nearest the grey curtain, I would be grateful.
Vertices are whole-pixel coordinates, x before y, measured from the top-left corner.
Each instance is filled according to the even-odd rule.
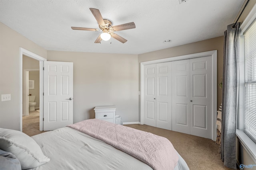
[[[212,58],[190,59],[190,134],[212,138]]]

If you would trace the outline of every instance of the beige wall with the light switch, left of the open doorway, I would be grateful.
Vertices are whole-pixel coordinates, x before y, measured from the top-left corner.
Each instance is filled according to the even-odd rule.
[[[11,100],[0,102],[0,127],[20,129],[20,47],[46,58],[47,51],[0,23],[0,94]]]

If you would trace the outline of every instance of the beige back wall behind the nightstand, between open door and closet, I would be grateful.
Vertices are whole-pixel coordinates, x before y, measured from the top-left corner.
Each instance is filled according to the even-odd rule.
[[[124,122],[139,121],[138,55],[48,51],[47,60],[74,63],[74,123],[113,105]]]

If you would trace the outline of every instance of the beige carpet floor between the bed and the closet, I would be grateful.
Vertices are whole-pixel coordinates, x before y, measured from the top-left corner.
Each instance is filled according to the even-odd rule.
[[[190,170],[231,170],[223,165],[218,153],[219,145],[216,145],[215,141],[148,125],[125,126],[169,139],[174,148],[187,162]]]

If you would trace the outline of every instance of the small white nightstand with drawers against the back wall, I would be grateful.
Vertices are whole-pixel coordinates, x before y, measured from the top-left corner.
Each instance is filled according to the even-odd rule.
[[[95,118],[115,123],[116,107],[115,106],[97,106],[94,108]]]

